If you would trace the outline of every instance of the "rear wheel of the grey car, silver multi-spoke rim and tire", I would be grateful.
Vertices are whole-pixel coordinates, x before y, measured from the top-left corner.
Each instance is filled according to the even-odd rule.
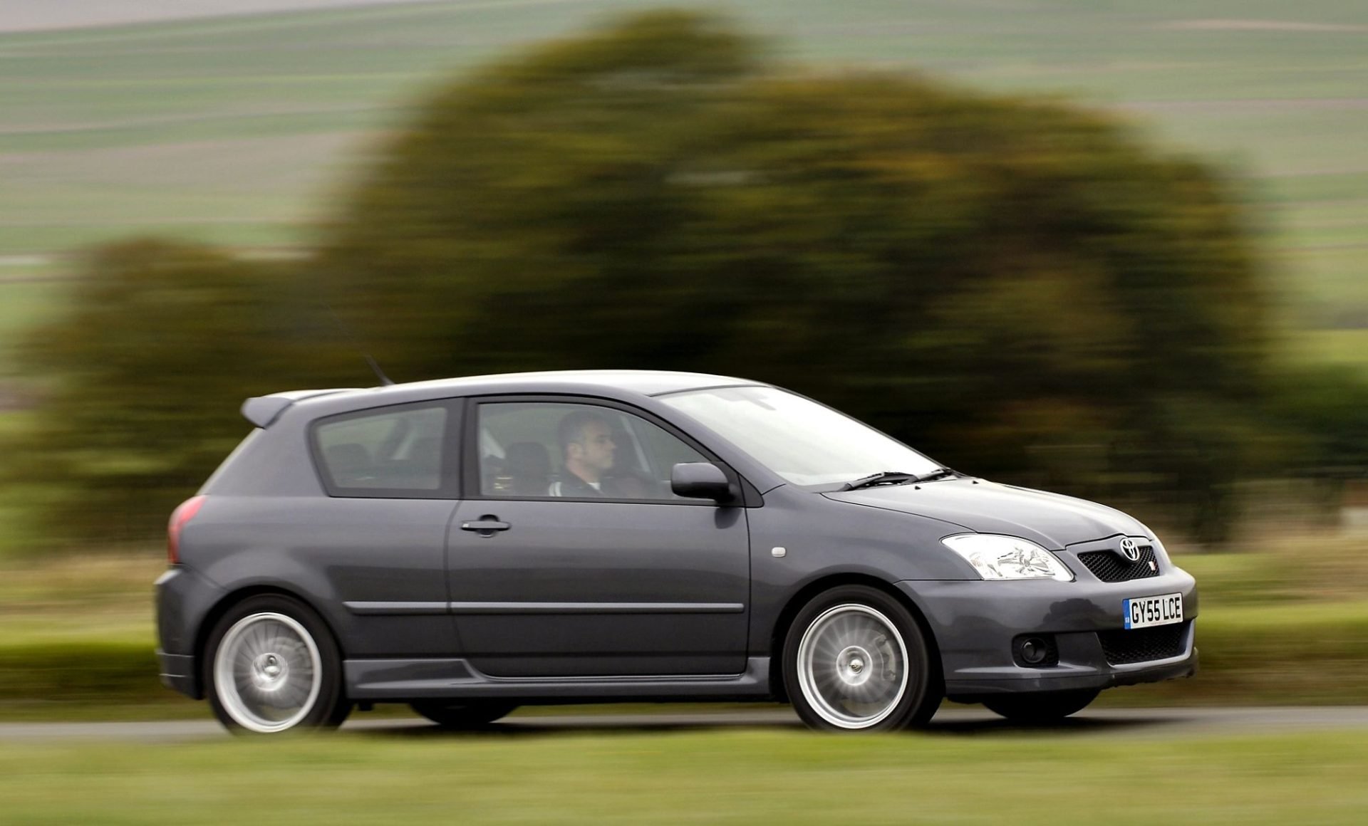
[[[335,729],[352,712],[337,641],[297,599],[264,594],[239,602],[215,624],[204,651],[209,707],[234,734]]]

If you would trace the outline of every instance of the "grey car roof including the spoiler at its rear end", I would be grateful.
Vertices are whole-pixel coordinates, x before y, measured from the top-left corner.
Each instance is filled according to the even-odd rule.
[[[662,395],[705,387],[744,387],[762,382],[684,373],[672,371],[543,371],[531,373],[495,373],[461,379],[434,379],[369,388],[291,390],[249,398],[242,414],[257,427],[269,427],[287,408],[323,408],[327,413],[347,409],[398,405],[454,395],[488,394],[586,394],[609,397]],[[321,413],[323,410],[316,410]]]

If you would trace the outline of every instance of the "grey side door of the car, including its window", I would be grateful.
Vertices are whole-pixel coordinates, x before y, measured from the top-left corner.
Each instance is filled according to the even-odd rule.
[[[595,476],[576,442],[584,423],[596,480],[579,475]],[[565,397],[473,399],[465,444],[447,576],[471,665],[501,677],[744,670],[746,509],[669,491],[674,462],[713,458],[700,446],[642,412]]]

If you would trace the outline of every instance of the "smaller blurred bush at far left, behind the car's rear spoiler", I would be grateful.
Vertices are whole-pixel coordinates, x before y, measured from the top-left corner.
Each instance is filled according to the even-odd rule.
[[[70,310],[26,349],[34,425],[5,446],[38,536],[146,537],[250,429],[245,397],[338,380],[345,351],[285,274],[159,241],[85,256]]]

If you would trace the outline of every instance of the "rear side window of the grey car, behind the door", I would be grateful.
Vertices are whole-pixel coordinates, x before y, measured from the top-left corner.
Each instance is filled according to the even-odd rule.
[[[427,406],[326,420],[313,432],[317,457],[337,491],[436,491],[446,417],[445,406]]]

